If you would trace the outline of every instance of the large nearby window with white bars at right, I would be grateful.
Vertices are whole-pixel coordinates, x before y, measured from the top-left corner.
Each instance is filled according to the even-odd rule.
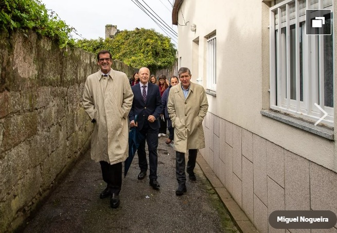
[[[333,127],[333,30],[331,35],[306,35],[306,9],[330,9],[332,0],[276,0],[270,8],[271,109]],[[333,27],[331,27],[333,28]]]

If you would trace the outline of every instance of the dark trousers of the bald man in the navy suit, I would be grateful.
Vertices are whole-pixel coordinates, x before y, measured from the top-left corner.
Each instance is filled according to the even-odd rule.
[[[148,162],[146,159],[146,151],[145,151],[145,141],[148,144],[149,150],[149,165],[150,165],[150,174],[149,178],[157,179],[157,165],[158,165],[158,130],[153,130],[147,121],[145,121],[143,129],[139,131],[143,136],[144,140],[140,142],[139,147],[137,149],[138,154],[138,165],[140,171],[148,170]]]

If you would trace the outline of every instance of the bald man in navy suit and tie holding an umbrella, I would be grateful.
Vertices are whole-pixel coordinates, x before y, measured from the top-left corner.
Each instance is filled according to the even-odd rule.
[[[160,128],[158,118],[162,113],[161,94],[157,85],[149,83],[150,70],[147,67],[140,68],[138,76],[140,82],[131,87],[134,98],[129,113],[130,126],[137,127],[140,134],[144,136],[144,140],[140,142],[137,150],[140,168],[138,180],[143,180],[148,170],[145,152],[146,140],[149,149],[150,185],[154,189],[159,189],[160,185],[157,182],[157,147]],[[135,116],[137,116],[136,122]]]

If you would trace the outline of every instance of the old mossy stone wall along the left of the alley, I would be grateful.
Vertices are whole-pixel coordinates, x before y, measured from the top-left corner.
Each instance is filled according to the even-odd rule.
[[[1,37],[0,232],[20,226],[90,146],[81,97],[97,70],[96,56],[81,49],[60,49],[34,33]]]

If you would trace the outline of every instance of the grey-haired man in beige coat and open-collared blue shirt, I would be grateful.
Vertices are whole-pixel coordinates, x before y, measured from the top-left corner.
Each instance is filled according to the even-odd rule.
[[[198,149],[205,147],[202,121],[208,110],[208,102],[203,86],[192,83],[191,71],[186,67],[178,70],[181,85],[171,87],[167,111],[174,128],[175,174],[178,181],[176,195],[186,192],[185,153],[188,150],[186,171],[191,181],[196,181]]]

